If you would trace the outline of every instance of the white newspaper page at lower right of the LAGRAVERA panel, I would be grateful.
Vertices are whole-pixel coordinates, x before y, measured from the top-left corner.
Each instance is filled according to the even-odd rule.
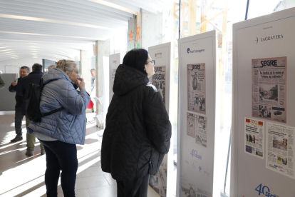
[[[266,168],[294,178],[295,127],[266,123]]]

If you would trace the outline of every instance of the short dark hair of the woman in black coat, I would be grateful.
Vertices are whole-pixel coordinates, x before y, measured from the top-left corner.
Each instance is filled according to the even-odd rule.
[[[148,75],[145,71],[145,63],[148,60],[148,51],[145,49],[133,49],[123,59],[123,65],[133,67]]]

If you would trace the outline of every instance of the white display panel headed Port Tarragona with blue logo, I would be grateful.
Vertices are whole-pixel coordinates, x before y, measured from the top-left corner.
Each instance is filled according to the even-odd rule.
[[[178,41],[180,116],[177,196],[212,196],[217,33]]]

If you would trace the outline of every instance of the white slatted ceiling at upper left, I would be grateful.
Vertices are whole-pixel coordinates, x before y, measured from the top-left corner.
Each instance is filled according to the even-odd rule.
[[[74,58],[172,0],[0,0],[0,61]]]

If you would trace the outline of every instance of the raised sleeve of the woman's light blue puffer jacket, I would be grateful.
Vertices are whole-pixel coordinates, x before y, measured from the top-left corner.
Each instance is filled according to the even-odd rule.
[[[86,90],[76,91],[70,83],[64,83],[59,89],[59,99],[61,106],[73,115],[85,113],[90,102],[90,96]]]

